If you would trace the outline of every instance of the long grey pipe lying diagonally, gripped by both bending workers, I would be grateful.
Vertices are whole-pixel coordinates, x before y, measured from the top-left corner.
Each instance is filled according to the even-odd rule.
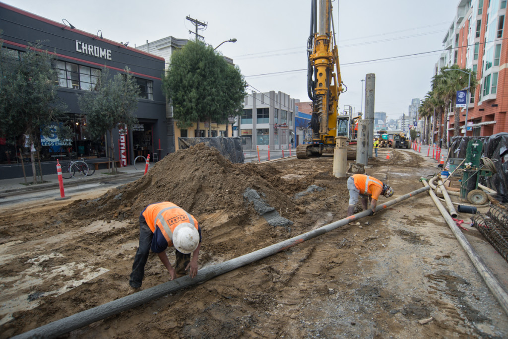
[[[396,199],[392,199],[384,204],[379,204],[376,207],[376,212],[382,209],[388,208],[402,200],[405,200],[410,197],[414,197],[417,194],[425,192],[429,190],[429,187],[422,187],[416,191],[412,191],[410,193],[404,194]],[[292,237],[291,239],[287,239],[268,247],[265,247],[261,250],[257,250],[248,254],[245,254],[241,257],[234,258],[228,261],[225,261],[220,264],[216,264],[213,266],[208,266],[199,270],[199,274],[194,279],[190,279],[188,275],[182,276],[181,278],[175,279],[173,281],[169,281],[163,283],[161,285],[157,285],[151,287],[146,290],[142,290],[140,292],[125,296],[120,299],[116,299],[105,303],[103,305],[99,305],[93,307],[93,309],[89,309],[83,312],[76,313],[67,318],[62,318],[51,322],[49,324],[43,325],[41,327],[35,328],[28,332],[19,334],[14,336],[13,338],[53,338],[80,327],[86,326],[93,322],[102,320],[104,318],[110,317],[112,315],[118,314],[120,312],[132,309],[133,307],[142,305],[151,300],[160,298],[162,296],[168,295],[170,293],[174,293],[183,288],[196,285],[199,283],[203,283],[207,280],[214,278],[220,274],[224,274],[231,270],[234,270],[238,267],[250,264],[257,260],[266,258],[278,252],[287,250],[294,245],[302,243],[306,240],[315,238],[327,232],[330,232],[336,228],[344,226],[350,222],[355,220],[367,217],[370,214],[370,210],[367,209],[360,213],[356,213],[351,215],[350,217],[341,219],[334,223],[322,226],[320,228],[316,228],[315,230],[309,231],[307,233]]]

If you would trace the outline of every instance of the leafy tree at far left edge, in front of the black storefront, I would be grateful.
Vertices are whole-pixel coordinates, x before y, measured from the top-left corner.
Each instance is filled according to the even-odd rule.
[[[71,136],[70,128],[60,123],[65,120],[67,106],[57,94],[58,73],[53,61],[53,55],[40,44],[18,52],[4,48],[0,40],[0,135],[13,139],[27,136],[34,183],[40,135],[48,136],[56,128],[60,139]],[[38,159],[40,168],[40,156]]]

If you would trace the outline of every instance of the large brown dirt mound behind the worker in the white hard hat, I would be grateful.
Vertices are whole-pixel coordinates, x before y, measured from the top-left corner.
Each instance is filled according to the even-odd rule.
[[[254,164],[233,164],[217,149],[198,144],[164,157],[142,178],[98,199],[76,201],[67,212],[80,219],[121,221],[137,218],[148,204],[171,201],[196,217],[227,209],[246,218],[255,213],[243,198],[247,188],[258,191],[277,210],[293,209],[288,194],[300,186],[280,176],[270,165],[261,169]],[[242,212],[245,207],[249,213]]]

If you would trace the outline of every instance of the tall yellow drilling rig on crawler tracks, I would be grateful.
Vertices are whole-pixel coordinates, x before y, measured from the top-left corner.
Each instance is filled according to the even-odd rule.
[[[343,88],[335,29],[332,34],[332,3],[331,0],[319,0],[318,29],[317,1],[311,0],[310,36],[307,41],[307,92],[312,100],[312,116],[310,133],[304,141],[310,143],[297,146],[296,156],[299,159],[321,156],[324,152],[333,153],[338,134],[347,133],[348,140],[351,140],[354,133],[352,113],[337,113]]]

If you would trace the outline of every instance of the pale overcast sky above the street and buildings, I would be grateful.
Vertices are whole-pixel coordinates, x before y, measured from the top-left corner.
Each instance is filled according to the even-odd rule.
[[[4,0],[4,3],[129,46],[167,36],[194,39],[190,16],[208,24],[205,42],[233,58],[248,91],[281,91],[307,97],[306,46],[310,0],[157,0],[54,1]],[[432,70],[442,50],[459,0],[335,0],[335,30],[342,81],[347,92],[339,108],[361,110],[362,79],[375,74],[375,108],[398,118],[411,99],[430,89]],[[338,24],[337,24],[338,22]],[[62,23],[63,24],[63,23]],[[1,24],[0,24],[1,25]],[[1,28],[1,26],[0,26]],[[412,56],[404,56],[418,54]],[[380,59],[380,60],[379,60]],[[365,87],[364,87],[365,89]],[[363,103],[365,106],[365,102]]]

